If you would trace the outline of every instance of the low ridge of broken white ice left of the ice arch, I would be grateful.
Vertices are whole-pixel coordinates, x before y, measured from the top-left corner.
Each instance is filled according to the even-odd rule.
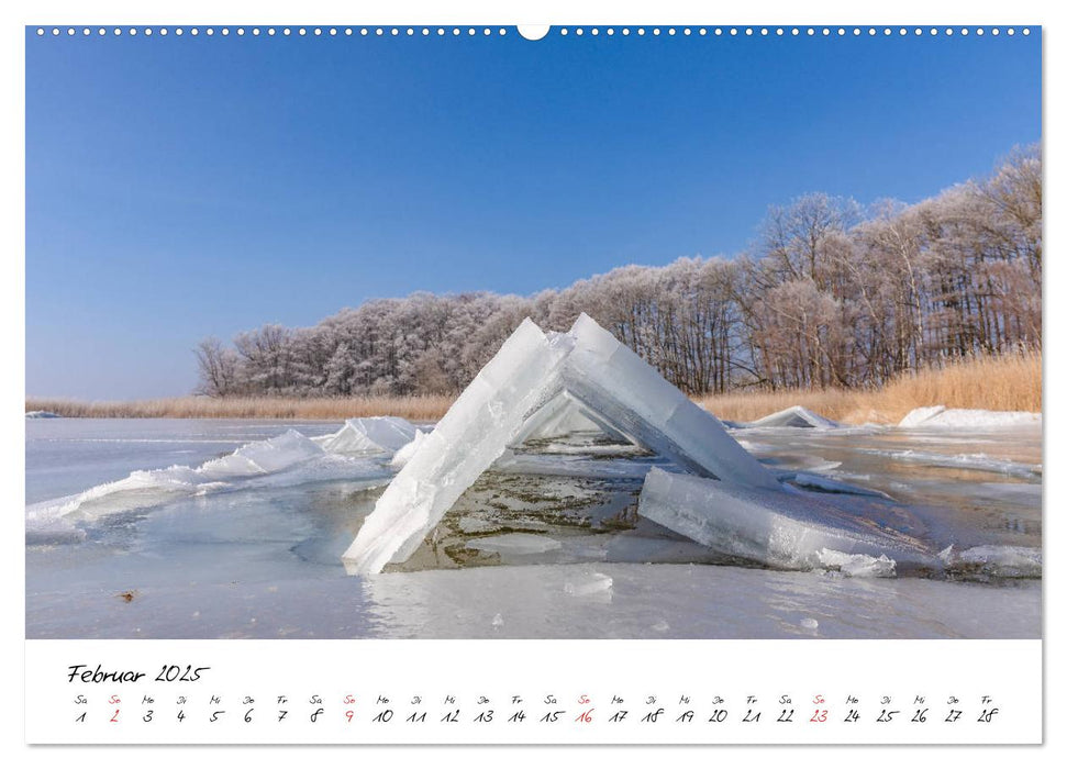
[[[330,455],[311,438],[290,430],[246,444],[200,467],[175,465],[136,470],[77,494],[27,505],[26,536],[40,540],[64,533],[75,536],[74,520],[143,510],[180,497],[321,480],[368,480],[387,475],[377,462]]]

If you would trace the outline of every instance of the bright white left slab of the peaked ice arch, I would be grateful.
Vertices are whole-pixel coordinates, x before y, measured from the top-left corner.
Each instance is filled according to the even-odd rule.
[[[345,568],[376,573],[407,560],[519,434],[571,347],[568,336],[549,341],[523,321],[397,473],[345,551]]]

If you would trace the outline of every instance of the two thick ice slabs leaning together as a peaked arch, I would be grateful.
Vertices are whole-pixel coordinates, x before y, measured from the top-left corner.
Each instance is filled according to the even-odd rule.
[[[551,335],[526,319],[386,489],[345,551],[345,568],[377,573],[410,558],[463,492],[568,399],[598,425],[680,467],[740,486],[781,488],[714,416],[588,315],[569,333]]]

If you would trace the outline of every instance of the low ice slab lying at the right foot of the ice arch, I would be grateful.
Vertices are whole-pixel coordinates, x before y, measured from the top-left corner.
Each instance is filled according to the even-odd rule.
[[[887,575],[901,562],[940,562],[907,534],[810,494],[745,489],[658,468],[645,477],[637,514],[720,553],[785,569],[847,565],[854,572]]]

